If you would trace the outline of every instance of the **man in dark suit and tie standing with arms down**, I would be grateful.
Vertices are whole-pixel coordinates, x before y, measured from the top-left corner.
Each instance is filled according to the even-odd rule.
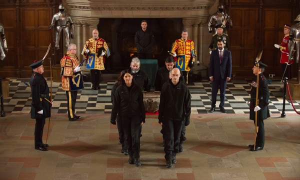
[[[231,78],[231,52],[224,49],[221,39],[217,40],[217,49],[211,51],[209,62],[209,79],[211,80],[211,108],[209,112],[215,110],[216,94],[220,89],[220,111],[224,109],[224,99],[227,81]]]

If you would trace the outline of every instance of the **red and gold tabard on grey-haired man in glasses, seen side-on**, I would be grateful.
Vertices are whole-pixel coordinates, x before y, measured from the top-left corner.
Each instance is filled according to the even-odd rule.
[[[60,60],[61,66],[61,88],[63,90],[70,89],[70,77],[73,77],[73,69],[79,65],[78,57],[75,54],[66,52],[66,54]]]

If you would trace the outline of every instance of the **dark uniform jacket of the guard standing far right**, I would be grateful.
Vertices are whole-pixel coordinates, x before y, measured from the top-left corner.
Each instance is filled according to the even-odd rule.
[[[269,89],[267,86],[267,80],[265,78],[265,76],[260,73],[258,74],[258,106],[261,108],[260,110],[257,111],[257,118],[259,118],[260,120],[266,119],[268,117],[270,117],[270,112],[268,109],[268,99],[270,96],[269,93]],[[254,84],[254,85],[253,85]],[[256,100],[256,78],[255,80],[252,81],[251,84],[251,91],[250,91],[250,95],[251,95],[251,100],[250,100],[250,119],[251,120],[255,120],[255,111],[254,111],[254,107],[255,107],[255,100]],[[257,86],[257,85],[256,85]]]

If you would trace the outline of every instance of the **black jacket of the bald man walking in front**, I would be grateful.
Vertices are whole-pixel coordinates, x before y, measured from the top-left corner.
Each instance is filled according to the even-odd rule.
[[[187,86],[179,79],[174,86],[169,81],[162,85],[159,101],[158,122],[163,120],[186,120],[190,117],[191,96]]]

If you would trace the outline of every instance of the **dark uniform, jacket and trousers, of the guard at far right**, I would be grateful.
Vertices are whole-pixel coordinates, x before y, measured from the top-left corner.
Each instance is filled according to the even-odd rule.
[[[268,99],[269,99],[269,89],[267,86],[267,80],[265,76],[260,73],[258,74],[258,103],[257,105],[261,108],[257,111],[257,126],[258,126],[258,132],[256,136],[255,145],[258,147],[264,146],[264,124],[263,120],[270,117],[269,109],[268,109]],[[252,81],[251,83],[251,100],[250,100],[250,119],[255,120],[255,100],[256,100],[256,79]],[[254,121],[255,123],[255,121]]]

